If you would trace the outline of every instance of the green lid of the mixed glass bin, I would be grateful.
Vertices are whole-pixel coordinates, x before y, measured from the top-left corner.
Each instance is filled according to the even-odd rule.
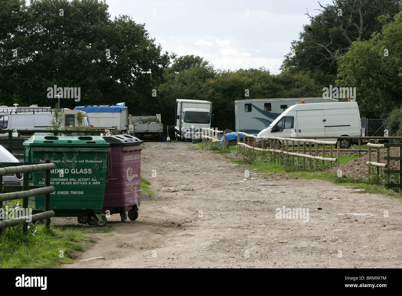
[[[100,136],[32,136],[23,143],[25,146],[46,147],[108,147]]]

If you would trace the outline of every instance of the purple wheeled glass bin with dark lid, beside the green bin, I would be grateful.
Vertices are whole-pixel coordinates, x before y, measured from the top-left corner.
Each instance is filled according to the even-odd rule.
[[[141,203],[141,150],[144,141],[130,135],[103,137],[110,144],[104,214],[120,213],[121,221],[138,217]],[[126,213],[128,212],[128,213]]]

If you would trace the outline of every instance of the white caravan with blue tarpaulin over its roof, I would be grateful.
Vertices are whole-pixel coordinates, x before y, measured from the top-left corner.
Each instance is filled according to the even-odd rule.
[[[74,108],[88,115],[89,124],[103,128],[127,130],[128,112],[125,103],[116,105],[85,105]]]

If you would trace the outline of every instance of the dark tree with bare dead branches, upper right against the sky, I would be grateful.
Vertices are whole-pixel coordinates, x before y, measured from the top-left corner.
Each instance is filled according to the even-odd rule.
[[[306,12],[310,24],[303,27],[300,40],[293,41],[285,56],[282,70],[309,73],[320,85],[334,84],[337,60],[354,41],[367,40],[380,31],[400,10],[400,0],[336,0],[323,6],[319,13]],[[382,16],[381,19],[378,19]]]

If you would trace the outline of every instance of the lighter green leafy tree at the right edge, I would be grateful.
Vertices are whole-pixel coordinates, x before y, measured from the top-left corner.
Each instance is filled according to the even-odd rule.
[[[353,42],[339,59],[341,87],[356,87],[361,116],[382,117],[402,106],[402,12],[371,39]]]

